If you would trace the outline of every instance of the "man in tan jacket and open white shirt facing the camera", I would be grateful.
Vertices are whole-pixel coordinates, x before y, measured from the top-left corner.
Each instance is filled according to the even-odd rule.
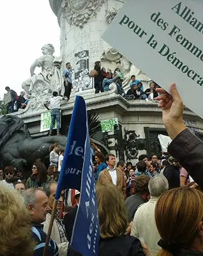
[[[116,157],[113,154],[108,154],[105,159],[107,168],[100,172],[98,177],[98,184],[113,183],[119,188],[124,197],[126,197],[126,181],[123,172],[119,168],[114,167],[116,164]]]

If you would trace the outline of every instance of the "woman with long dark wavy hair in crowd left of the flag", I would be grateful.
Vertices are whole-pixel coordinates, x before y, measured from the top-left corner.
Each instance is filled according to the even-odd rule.
[[[33,163],[32,175],[27,179],[26,188],[44,188],[49,182],[47,168],[40,161]]]

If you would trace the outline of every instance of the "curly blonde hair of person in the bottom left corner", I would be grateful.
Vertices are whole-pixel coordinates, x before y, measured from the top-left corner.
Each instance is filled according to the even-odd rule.
[[[1,256],[31,256],[34,241],[31,218],[20,193],[0,184]]]

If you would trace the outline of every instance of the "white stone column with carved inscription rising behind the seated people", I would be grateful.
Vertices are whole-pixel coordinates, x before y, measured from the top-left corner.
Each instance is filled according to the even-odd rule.
[[[61,28],[61,58],[63,63],[70,61],[74,68],[75,92],[93,93],[93,83],[88,73],[93,69],[94,61],[98,60],[101,60],[101,67],[112,71],[118,67],[123,72],[124,88],[128,88],[133,74],[146,83],[146,86],[150,81],[149,77],[101,38],[124,1],[126,0],[49,0]]]

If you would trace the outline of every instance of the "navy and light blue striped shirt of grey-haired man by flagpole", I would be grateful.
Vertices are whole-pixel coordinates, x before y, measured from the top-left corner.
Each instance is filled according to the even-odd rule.
[[[33,231],[33,239],[36,242],[33,256],[42,256],[43,250],[45,248],[47,234],[43,232],[43,225],[37,224],[37,223],[32,223],[32,231]],[[52,241],[52,239],[49,240],[47,255],[49,256],[59,255],[57,244],[56,242]]]

